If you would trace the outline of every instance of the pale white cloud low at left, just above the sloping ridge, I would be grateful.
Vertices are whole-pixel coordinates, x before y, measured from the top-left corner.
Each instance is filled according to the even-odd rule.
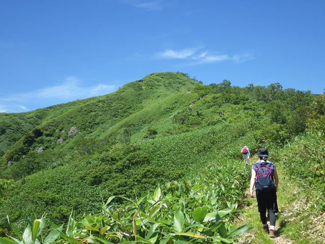
[[[0,112],[25,112],[77,99],[102,96],[115,90],[115,85],[106,84],[95,84],[85,87],[82,86],[82,82],[76,77],[68,77],[60,85],[48,86],[32,92],[10,95],[8,97],[2,96],[0,98]]]

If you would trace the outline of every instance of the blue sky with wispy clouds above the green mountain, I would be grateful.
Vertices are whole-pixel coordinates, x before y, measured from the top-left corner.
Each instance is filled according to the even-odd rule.
[[[0,112],[109,94],[154,72],[325,88],[325,1],[0,0]]]

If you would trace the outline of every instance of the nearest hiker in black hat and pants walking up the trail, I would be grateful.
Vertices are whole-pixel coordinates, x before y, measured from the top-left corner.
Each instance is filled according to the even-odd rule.
[[[259,148],[256,156],[259,160],[252,166],[249,194],[253,198],[255,186],[256,200],[259,217],[263,229],[269,232],[271,238],[275,237],[275,212],[278,212],[276,192],[279,185],[279,177],[275,165],[268,161],[270,156],[265,147]],[[266,211],[270,218],[270,229],[267,224]]]

